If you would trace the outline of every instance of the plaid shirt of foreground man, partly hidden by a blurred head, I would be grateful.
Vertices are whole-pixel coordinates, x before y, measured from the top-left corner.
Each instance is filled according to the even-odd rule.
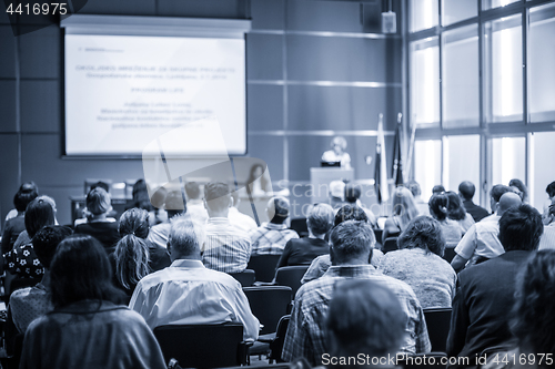
[[[371,265],[332,266],[321,278],[303,285],[296,293],[283,346],[283,360],[303,357],[313,366],[322,365],[322,355],[329,352],[324,331],[327,306],[335,283],[347,278],[371,279],[390,288],[398,297],[406,312],[406,335],[401,351],[420,353],[432,350],[424,312],[407,284],[384,276]]]

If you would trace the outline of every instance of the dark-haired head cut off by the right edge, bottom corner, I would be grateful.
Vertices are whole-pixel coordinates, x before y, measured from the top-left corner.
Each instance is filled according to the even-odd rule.
[[[527,262],[516,278],[512,329],[522,351],[555,352],[554,300],[555,250],[544,249]]]

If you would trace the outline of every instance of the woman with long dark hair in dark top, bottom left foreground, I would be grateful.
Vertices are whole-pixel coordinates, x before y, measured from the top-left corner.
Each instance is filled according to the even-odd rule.
[[[118,305],[123,293],[111,277],[97,239],[62,240],[50,268],[54,310],[29,326],[20,368],[165,368],[141,316]]]

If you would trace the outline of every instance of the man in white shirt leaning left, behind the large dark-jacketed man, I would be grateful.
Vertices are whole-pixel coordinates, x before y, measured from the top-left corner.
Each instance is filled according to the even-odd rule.
[[[500,219],[509,207],[517,205],[521,205],[521,197],[514,192],[505,193],[495,205],[497,214],[485,217],[466,232],[455,247],[456,255],[451,262],[455,271],[463,269],[467,262],[468,265],[480,264],[505,253],[497,237]]]

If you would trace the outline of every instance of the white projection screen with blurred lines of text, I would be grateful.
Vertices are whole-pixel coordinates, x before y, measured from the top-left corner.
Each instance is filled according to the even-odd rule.
[[[168,155],[221,154],[214,122],[228,154],[246,153],[250,21],[75,14],[61,27],[65,155],[140,156],[175,129],[186,144]]]

